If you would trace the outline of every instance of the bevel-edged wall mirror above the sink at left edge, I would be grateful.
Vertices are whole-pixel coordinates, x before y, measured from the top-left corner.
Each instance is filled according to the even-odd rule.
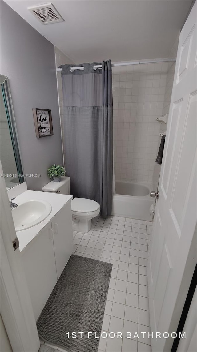
[[[18,136],[14,119],[9,82],[6,76],[0,75],[0,159],[6,188],[10,189],[25,182],[23,176]]]

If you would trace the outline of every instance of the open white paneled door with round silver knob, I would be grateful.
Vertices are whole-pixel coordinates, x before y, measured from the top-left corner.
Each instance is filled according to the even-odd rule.
[[[148,260],[151,332],[176,331],[189,288],[184,269],[197,220],[196,10],[195,3],[179,38],[159,180]],[[172,339],[151,340],[153,352],[171,350]]]

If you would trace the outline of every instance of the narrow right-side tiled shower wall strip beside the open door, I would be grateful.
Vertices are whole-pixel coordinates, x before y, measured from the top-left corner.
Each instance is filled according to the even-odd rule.
[[[172,50],[170,52],[170,56],[169,56],[170,58],[176,58],[177,56],[178,39],[179,39],[179,35],[177,36],[176,42],[174,43]],[[173,86],[174,75],[175,75],[175,65],[176,65],[176,62],[168,63],[168,72],[167,72],[167,78],[166,78],[162,115],[169,113],[170,100],[172,95],[172,86]],[[167,129],[167,124],[165,125],[164,123],[161,123],[159,133],[165,134],[166,129]],[[161,137],[159,137],[158,139],[157,151],[159,149],[160,142],[161,142]],[[153,176],[152,176],[152,186],[154,187],[154,190],[157,189],[160,170],[161,170],[161,165],[158,165],[155,163]]]

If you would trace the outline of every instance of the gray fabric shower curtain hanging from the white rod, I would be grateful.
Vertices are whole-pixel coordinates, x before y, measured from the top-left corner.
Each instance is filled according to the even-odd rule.
[[[100,215],[111,215],[113,101],[111,61],[61,65],[66,173],[73,197],[93,199]],[[70,71],[83,66],[84,70]]]

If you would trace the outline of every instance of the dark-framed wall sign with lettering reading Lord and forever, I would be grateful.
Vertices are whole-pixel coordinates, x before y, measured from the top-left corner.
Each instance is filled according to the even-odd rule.
[[[36,137],[53,136],[51,110],[35,108],[33,115]]]

